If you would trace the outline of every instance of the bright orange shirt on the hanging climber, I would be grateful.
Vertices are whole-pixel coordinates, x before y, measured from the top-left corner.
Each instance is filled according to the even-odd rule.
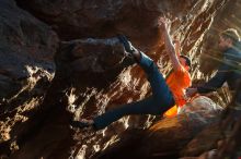
[[[175,105],[177,107],[185,105],[185,89],[192,84],[190,72],[181,66],[179,71],[173,71],[165,82],[173,94]]]

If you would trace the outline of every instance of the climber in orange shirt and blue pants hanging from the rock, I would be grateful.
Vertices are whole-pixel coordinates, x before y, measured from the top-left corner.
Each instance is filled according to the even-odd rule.
[[[92,126],[94,130],[102,130],[124,115],[160,115],[174,105],[183,106],[186,102],[184,90],[191,86],[191,75],[188,73],[191,69],[191,61],[187,57],[180,56],[180,53],[176,52],[177,49],[174,48],[169,35],[167,19],[161,17],[159,20],[159,27],[160,30],[163,30],[165,48],[173,66],[173,71],[169,75],[168,80],[164,80],[158,70],[158,66],[149,57],[137,50],[125,36],[118,36],[126,53],[131,56],[147,74],[152,95],[140,101],[119,106],[118,108],[107,111],[93,120],[82,119],[81,121],[71,121],[71,126]]]

